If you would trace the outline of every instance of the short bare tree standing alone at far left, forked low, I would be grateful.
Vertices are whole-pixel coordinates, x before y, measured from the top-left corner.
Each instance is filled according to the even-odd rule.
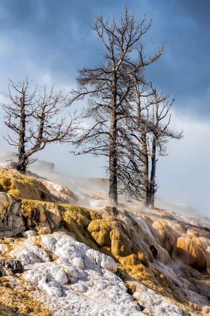
[[[14,155],[17,161],[11,166],[25,173],[27,166],[36,159],[31,156],[52,142],[72,142],[78,129],[76,113],[68,115],[68,121],[62,117],[67,105],[68,94],[63,90],[54,92],[44,85],[38,90],[32,88],[28,78],[14,82],[9,80],[9,93],[3,93],[12,102],[2,104],[6,112],[4,123],[13,131],[5,139],[17,148]]]

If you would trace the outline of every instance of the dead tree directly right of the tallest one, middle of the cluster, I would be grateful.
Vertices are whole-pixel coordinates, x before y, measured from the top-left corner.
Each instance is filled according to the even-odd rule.
[[[129,177],[123,177],[120,191],[128,200],[135,199],[148,205],[150,190],[148,132],[151,92],[148,91],[148,84],[139,83],[135,75],[131,80],[133,84],[129,94],[130,111],[123,119],[125,131],[122,146],[124,152],[119,157],[120,163],[126,166],[126,169],[127,166],[129,167]],[[121,125],[123,126],[123,124]]]

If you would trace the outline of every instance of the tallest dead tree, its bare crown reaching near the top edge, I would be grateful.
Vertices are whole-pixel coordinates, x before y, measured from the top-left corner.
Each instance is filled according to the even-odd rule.
[[[130,75],[135,73],[138,80],[143,80],[144,69],[162,55],[164,47],[159,47],[153,56],[144,55],[142,37],[150,29],[152,19],[146,23],[146,17],[136,24],[134,15],[125,7],[119,25],[115,18],[109,22],[100,15],[91,25],[102,42],[105,60],[92,69],[83,68],[79,71],[78,89],[72,91],[72,101],[89,96],[84,118],[93,118],[95,124],[84,131],[78,139],[83,145],[80,153],[105,155],[109,160],[109,197],[113,205],[117,205],[117,182],[120,175],[119,157],[119,126],[127,115],[127,97],[130,90]],[[136,53],[136,60],[132,54]],[[87,147],[86,147],[87,146]]]

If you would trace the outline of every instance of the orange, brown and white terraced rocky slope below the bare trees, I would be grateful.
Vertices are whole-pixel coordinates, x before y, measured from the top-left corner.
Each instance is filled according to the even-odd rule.
[[[210,313],[208,219],[56,180],[0,169],[0,314]]]

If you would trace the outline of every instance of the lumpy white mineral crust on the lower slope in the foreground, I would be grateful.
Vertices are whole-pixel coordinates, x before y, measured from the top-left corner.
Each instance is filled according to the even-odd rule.
[[[65,234],[30,236],[10,254],[25,263],[23,277],[40,291],[31,295],[59,316],[136,316],[142,314],[114,260]],[[47,253],[53,254],[50,262]]]

